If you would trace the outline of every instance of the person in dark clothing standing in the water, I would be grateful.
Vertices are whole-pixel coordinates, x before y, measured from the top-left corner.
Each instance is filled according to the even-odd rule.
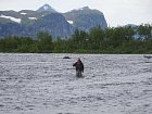
[[[84,63],[80,61],[80,59],[78,59],[77,62],[73,64],[73,66],[76,67],[76,76],[83,76],[81,73],[84,73]]]

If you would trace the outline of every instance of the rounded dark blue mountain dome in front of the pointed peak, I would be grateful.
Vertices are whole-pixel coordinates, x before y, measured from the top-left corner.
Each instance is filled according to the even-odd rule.
[[[65,37],[73,33],[73,27],[66,22],[60,13],[50,13],[29,26],[34,34],[47,31],[53,37]],[[59,36],[60,35],[60,36]]]

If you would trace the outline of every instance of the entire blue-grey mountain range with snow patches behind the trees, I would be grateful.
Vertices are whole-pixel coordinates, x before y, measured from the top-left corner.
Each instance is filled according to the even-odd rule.
[[[107,24],[102,12],[88,7],[59,13],[49,4],[37,11],[0,11],[0,38],[7,36],[26,36],[36,38],[39,31],[48,31],[55,37],[68,37],[76,28],[89,30],[91,27]]]

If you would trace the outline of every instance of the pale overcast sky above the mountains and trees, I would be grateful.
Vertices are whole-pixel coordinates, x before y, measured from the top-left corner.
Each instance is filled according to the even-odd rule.
[[[46,3],[59,12],[88,5],[103,12],[109,26],[152,24],[152,0],[0,0],[0,11],[37,10]]]

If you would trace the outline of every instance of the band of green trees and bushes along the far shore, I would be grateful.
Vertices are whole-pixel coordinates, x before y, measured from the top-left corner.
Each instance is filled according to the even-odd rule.
[[[152,53],[152,26],[77,29],[71,38],[56,40],[47,33],[39,33],[37,39],[10,36],[0,39],[0,52]]]

